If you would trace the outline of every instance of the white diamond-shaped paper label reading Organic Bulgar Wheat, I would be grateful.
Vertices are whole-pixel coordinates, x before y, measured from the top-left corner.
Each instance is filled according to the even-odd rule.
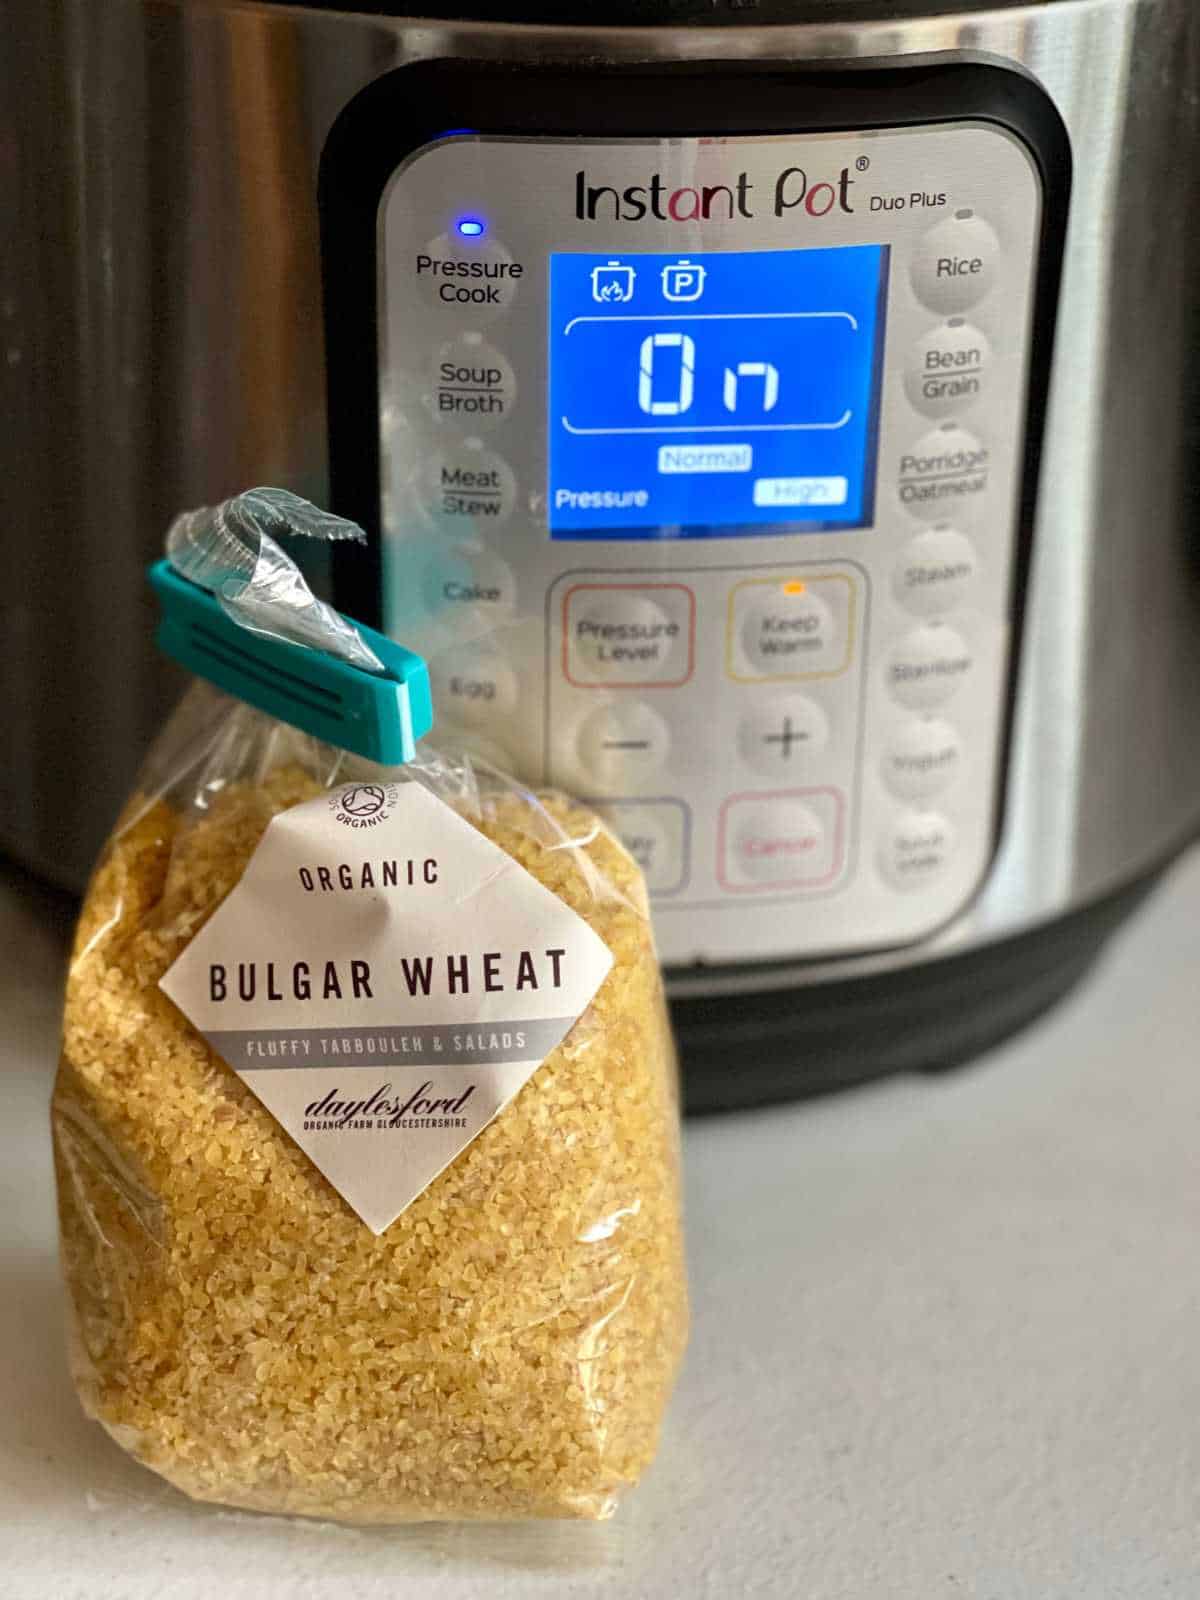
[[[277,816],[162,989],[382,1234],[566,1035],[613,957],[418,782]]]

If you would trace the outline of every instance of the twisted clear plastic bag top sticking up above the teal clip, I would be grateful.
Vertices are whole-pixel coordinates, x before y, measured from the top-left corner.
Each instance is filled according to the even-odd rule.
[[[219,506],[176,517],[166,531],[166,558],[181,578],[213,594],[242,627],[323,650],[352,667],[382,672],[371,646],[341,613],[318,600],[275,536],[339,542],[366,539],[363,530],[288,490],[245,490]]]

